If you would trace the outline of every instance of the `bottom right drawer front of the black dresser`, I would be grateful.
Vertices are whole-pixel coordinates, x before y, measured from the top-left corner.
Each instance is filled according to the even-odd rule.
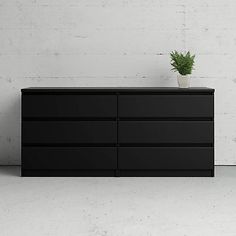
[[[123,170],[203,170],[214,168],[210,147],[122,147],[118,168]]]

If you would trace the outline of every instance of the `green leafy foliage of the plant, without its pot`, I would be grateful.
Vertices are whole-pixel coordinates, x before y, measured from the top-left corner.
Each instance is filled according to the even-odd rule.
[[[170,57],[173,71],[178,71],[181,75],[192,73],[195,55],[191,55],[190,52],[183,54],[173,51],[170,53]]]

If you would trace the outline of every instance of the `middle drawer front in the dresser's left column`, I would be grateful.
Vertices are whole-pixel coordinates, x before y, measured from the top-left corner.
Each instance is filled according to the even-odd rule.
[[[116,143],[115,121],[24,121],[23,144]]]

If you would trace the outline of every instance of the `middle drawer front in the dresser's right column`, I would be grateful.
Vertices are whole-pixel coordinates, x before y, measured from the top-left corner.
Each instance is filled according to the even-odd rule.
[[[120,121],[119,143],[213,143],[211,121]]]

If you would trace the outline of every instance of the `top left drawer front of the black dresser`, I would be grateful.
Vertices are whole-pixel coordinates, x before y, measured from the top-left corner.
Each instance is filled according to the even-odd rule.
[[[23,117],[116,117],[115,95],[23,95]]]

